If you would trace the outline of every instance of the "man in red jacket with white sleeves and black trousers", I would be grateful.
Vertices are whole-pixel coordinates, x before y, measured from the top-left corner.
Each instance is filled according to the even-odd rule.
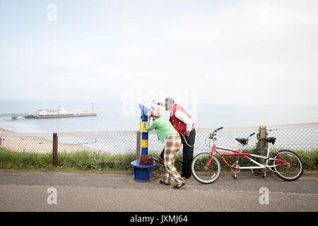
[[[194,140],[196,136],[196,130],[194,129],[194,122],[188,112],[180,105],[175,104],[175,101],[167,97],[165,103],[155,102],[156,105],[162,105],[167,111],[170,111],[170,122],[182,137],[182,173],[181,176],[185,179],[189,179],[192,175],[191,163],[193,160]],[[161,163],[163,163],[163,152],[161,153]]]

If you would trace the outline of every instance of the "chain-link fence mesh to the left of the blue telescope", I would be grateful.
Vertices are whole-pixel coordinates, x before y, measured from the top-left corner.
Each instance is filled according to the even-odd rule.
[[[17,153],[52,153],[52,133],[2,134],[0,148]],[[59,153],[136,153],[136,131],[58,133]]]

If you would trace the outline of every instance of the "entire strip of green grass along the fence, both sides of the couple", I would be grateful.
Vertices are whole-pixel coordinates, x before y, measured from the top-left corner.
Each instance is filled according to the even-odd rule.
[[[307,170],[316,171],[318,162],[318,149],[313,151],[294,150],[304,163]],[[159,153],[159,152],[158,152]],[[244,153],[253,153],[253,150],[245,150]],[[160,158],[157,153],[150,153],[153,157]],[[216,155],[223,171],[230,172],[230,167],[225,165],[219,155]],[[225,157],[228,164],[235,162],[236,156]],[[112,155],[108,153],[93,153],[83,150],[76,153],[59,153],[58,165],[52,165],[52,153],[27,153],[15,152],[0,148],[0,169],[37,169],[37,170],[92,170],[92,171],[133,171],[131,161],[136,160],[135,153]],[[240,166],[249,165],[245,157],[240,157]],[[175,159],[175,167],[179,172],[182,169],[182,153]],[[155,174],[164,172],[164,167],[155,167]]]

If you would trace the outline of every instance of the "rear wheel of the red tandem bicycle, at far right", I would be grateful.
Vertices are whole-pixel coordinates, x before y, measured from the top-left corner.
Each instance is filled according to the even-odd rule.
[[[273,165],[283,164],[278,161],[281,160],[279,155],[281,155],[283,160],[289,162],[289,165],[273,167],[275,174],[285,181],[295,181],[300,178],[304,172],[304,165],[300,157],[291,150],[280,150],[278,155],[273,156]]]

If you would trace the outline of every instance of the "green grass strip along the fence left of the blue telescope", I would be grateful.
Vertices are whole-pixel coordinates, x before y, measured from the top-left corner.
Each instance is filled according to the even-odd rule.
[[[59,153],[58,165],[52,165],[52,153],[15,152],[0,148],[0,169],[40,169],[40,170],[132,170],[130,162],[136,154],[110,155],[83,150],[76,153]]]

